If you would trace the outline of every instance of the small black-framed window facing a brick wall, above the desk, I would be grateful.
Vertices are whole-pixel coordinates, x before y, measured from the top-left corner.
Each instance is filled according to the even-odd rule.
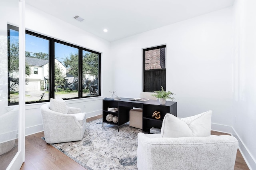
[[[143,91],[166,89],[166,45],[143,49]]]

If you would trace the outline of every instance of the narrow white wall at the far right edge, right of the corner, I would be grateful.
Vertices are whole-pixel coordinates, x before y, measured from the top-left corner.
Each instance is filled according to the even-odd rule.
[[[234,97],[232,127],[250,169],[256,169],[256,1],[234,3]]]

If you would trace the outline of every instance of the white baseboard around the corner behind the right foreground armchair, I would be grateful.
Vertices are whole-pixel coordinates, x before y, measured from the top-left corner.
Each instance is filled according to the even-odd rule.
[[[218,131],[218,132],[224,132],[224,133],[229,133],[232,136],[234,136],[239,143],[238,149],[240,150],[247,166],[249,167],[250,170],[256,170],[256,160],[252,157],[252,154],[248,151],[244,143],[242,142],[241,138],[238,136],[236,131],[233,129],[231,126],[226,126],[226,125],[219,125],[219,124],[214,124],[212,123],[212,130]]]

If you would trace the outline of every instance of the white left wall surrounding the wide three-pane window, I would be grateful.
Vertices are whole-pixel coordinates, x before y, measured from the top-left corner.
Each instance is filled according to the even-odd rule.
[[[110,42],[98,38],[88,32],[84,32],[62,20],[54,18],[28,4],[26,4],[26,29],[42,35],[46,35],[64,42],[72,43],[87,49],[102,53],[101,83],[102,96],[109,95],[112,88],[112,73],[109,67]],[[66,101],[70,107],[80,107],[86,112],[86,117],[102,114],[103,97],[86,99],[73,99]],[[43,130],[40,106],[44,103],[26,105],[26,135]]]

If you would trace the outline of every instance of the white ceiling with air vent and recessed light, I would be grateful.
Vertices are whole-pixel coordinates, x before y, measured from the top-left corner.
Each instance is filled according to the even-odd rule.
[[[232,6],[234,0],[26,0],[109,42]],[[80,16],[84,21],[74,19]],[[103,32],[107,29],[108,32]]]

